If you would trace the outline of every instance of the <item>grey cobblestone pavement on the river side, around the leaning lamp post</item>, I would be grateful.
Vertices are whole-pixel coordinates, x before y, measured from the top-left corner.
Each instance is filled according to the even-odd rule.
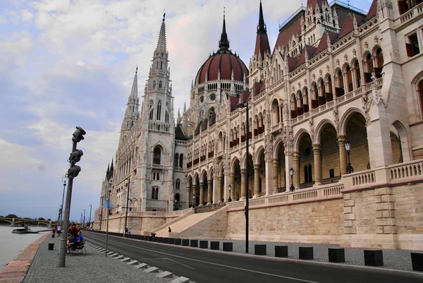
[[[48,243],[54,243],[54,251],[48,250]],[[74,283],[74,282],[145,282],[169,283],[178,277],[159,278],[159,273],[147,273],[120,260],[105,257],[104,253],[85,244],[87,255],[76,253],[66,255],[66,267],[57,267],[59,263],[60,239],[48,237],[41,243],[37,255],[23,283]],[[188,281],[189,282],[189,281]]]

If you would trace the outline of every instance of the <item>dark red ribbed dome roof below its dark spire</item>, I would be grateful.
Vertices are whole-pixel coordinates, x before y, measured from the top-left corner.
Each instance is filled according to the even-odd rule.
[[[195,85],[204,83],[206,74],[208,81],[217,80],[219,71],[221,80],[231,80],[232,71],[233,78],[240,82],[244,80],[244,75],[245,77],[248,76],[248,68],[238,56],[235,56],[227,49],[219,50],[219,52],[210,56],[209,59],[202,64],[195,78]]]

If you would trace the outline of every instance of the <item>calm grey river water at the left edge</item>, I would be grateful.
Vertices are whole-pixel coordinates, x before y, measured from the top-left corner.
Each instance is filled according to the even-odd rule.
[[[14,260],[24,248],[30,245],[30,243],[35,242],[44,233],[51,233],[13,234],[13,228],[16,227],[0,226],[0,270]],[[32,227],[32,229],[36,230],[37,227]]]

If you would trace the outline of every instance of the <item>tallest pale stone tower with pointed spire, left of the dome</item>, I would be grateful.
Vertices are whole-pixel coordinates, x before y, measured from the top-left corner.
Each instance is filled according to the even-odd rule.
[[[147,207],[157,211],[173,210],[175,128],[165,17],[166,14],[161,21],[142,102],[140,157],[135,178],[141,211],[146,211]],[[158,206],[166,202],[168,207]]]

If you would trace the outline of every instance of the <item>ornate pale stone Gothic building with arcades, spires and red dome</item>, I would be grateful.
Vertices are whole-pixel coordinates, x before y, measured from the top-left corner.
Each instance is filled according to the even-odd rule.
[[[225,202],[226,236],[242,239],[251,198],[255,239],[421,249],[423,6],[410,4],[374,0],[364,13],[307,1],[273,50],[260,4],[248,70],[229,49],[223,18],[219,51],[192,81],[176,125],[163,22],[140,112],[136,76],[128,99],[112,215],[122,215],[127,195],[138,212]],[[161,62],[166,71],[155,71]],[[159,100],[168,123],[164,111],[155,116]]]

